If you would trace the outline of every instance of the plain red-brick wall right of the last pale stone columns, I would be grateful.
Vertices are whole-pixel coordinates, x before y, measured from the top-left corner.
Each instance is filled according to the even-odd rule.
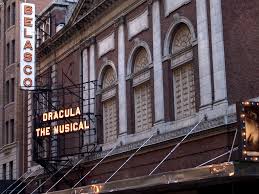
[[[259,96],[259,1],[222,1],[230,104]]]

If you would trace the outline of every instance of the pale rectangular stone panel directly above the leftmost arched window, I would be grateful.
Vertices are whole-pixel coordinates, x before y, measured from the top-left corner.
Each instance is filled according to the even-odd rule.
[[[115,35],[114,33],[110,34],[103,40],[100,40],[98,43],[98,57],[102,57],[106,53],[115,49]]]

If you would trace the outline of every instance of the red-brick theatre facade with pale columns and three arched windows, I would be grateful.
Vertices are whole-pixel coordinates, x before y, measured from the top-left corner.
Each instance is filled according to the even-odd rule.
[[[27,152],[28,168],[44,170],[28,193],[254,186],[258,167],[233,161],[236,102],[259,96],[258,7],[256,0],[79,0],[37,47]],[[51,17],[57,29],[53,18],[62,12]]]

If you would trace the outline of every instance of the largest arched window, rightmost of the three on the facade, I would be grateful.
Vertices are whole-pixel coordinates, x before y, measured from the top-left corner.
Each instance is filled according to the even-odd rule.
[[[180,24],[172,37],[174,108],[175,119],[182,119],[195,112],[195,87],[191,32]]]

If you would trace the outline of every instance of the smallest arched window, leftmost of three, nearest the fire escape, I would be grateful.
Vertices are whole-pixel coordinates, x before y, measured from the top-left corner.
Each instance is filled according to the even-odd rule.
[[[116,74],[111,66],[105,69],[102,80],[103,137],[104,143],[117,139]]]

